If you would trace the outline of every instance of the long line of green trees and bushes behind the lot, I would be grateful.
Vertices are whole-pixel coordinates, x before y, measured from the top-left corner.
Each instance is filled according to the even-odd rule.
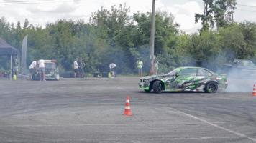
[[[202,29],[194,34],[178,30],[174,16],[166,11],[155,15],[155,55],[160,73],[177,66],[204,66],[216,71],[233,59],[256,61],[256,24],[236,23],[230,19],[234,0],[203,0],[204,14],[195,14]],[[45,27],[9,23],[0,19],[0,37],[21,51],[22,39],[28,34],[27,64],[35,59],[56,59],[60,71],[72,71],[77,57],[86,63],[86,72],[116,71],[132,74],[136,61],[142,58],[144,69],[150,68],[151,13],[137,12],[130,16],[125,4],[103,7],[91,14],[90,21],[58,20]],[[0,58],[1,66],[6,66]]]

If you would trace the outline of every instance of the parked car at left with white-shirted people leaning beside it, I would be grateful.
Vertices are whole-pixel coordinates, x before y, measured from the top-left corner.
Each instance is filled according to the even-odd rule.
[[[32,75],[33,80],[40,80],[39,71],[35,71]],[[45,79],[60,80],[60,74],[55,60],[45,60]]]

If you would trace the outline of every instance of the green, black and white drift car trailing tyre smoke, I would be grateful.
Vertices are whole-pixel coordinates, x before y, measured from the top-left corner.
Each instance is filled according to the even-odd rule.
[[[227,77],[201,67],[178,67],[168,74],[142,77],[140,89],[145,92],[208,92],[227,88]]]

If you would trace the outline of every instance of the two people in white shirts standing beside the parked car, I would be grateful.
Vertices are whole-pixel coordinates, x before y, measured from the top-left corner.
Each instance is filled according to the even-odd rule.
[[[32,63],[29,66],[29,77],[32,79],[33,74],[35,74],[36,71],[39,71],[40,74],[40,81],[45,81],[45,60],[40,59],[38,61],[32,61]]]

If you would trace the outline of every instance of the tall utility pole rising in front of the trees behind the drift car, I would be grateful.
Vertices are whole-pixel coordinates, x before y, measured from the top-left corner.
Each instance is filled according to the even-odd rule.
[[[155,73],[155,0],[152,0],[152,16],[150,28],[150,75]]]

